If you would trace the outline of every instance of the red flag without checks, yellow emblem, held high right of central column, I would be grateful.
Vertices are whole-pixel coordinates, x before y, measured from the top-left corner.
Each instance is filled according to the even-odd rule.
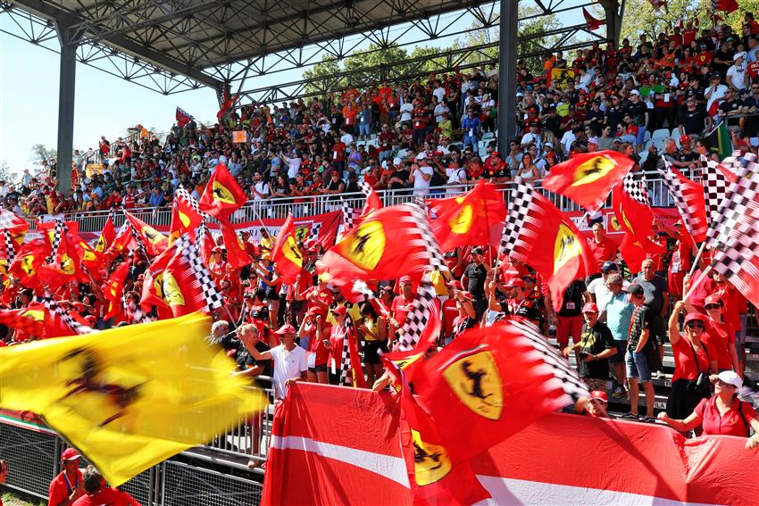
[[[616,151],[575,154],[551,169],[543,187],[571,198],[593,214],[604,206],[609,191],[632,165],[630,157]]]

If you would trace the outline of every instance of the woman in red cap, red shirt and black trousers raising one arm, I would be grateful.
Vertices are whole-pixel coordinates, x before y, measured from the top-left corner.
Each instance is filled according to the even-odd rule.
[[[675,372],[667,398],[667,415],[672,419],[687,418],[701,399],[711,396],[708,376],[717,373],[717,351],[704,338],[705,316],[697,312],[688,313],[684,320],[685,333],[680,334],[678,319],[685,309],[683,301],[675,303],[669,322]]]

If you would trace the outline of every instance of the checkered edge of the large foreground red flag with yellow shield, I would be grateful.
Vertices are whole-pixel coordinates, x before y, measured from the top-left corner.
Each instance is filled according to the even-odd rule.
[[[543,336],[538,327],[529,321],[518,319],[509,320],[509,325],[519,328],[521,331],[520,339],[533,349],[532,352],[527,353],[526,361],[532,362],[536,358],[540,359],[539,365],[533,367],[541,369],[542,374],[538,373],[536,376],[553,377],[554,381],[561,384],[564,394],[569,396],[571,402],[577,402],[580,397],[590,395],[588,386],[582,382],[577,370],[572,368],[566,359],[559,356],[555,347],[546,341],[546,337]],[[567,404],[571,402],[567,402]]]

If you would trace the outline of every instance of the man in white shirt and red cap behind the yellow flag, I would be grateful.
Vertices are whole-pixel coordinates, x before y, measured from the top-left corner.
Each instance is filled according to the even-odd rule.
[[[248,350],[256,361],[274,361],[274,395],[284,399],[290,385],[298,379],[305,379],[308,359],[305,350],[296,344],[296,328],[283,325],[275,332],[281,344],[267,352],[260,353],[255,348]]]

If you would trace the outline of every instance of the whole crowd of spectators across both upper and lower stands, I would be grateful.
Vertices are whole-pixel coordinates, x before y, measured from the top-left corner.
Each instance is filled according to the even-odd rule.
[[[663,156],[688,168],[696,165],[698,153],[713,155],[705,134],[723,120],[721,116],[738,125],[735,145],[755,151],[759,144],[759,117],[733,117],[755,112],[759,104],[759,84],[754,83],[759,24],[750,14],[742,31],[733,34],[723,26],[699,33],[688,23],[675,33],[661,34],[654,43],[641,36],[638,46],[625,39],[619,48],[582,49],[571,62],[559,52],[546,58],[546,71],[537,78],[520,62],[520,133],[503,146],[503,153],[493,139],[484,146],[484,160],[480,138],[494,132],[497,124],[495,68],[433,76],[426,84],[381,83],[363,92],[351,88],[331,102],[246,105],[212,128],[194,121],[175,126],[163,144],[149,135],[129,142],[103,138],[99,149],[110,161],[107,170],[88,177],[85,157],[75,160],[76,191],[71,200],[52,193],[49,182],[26,176],[21,190],[3,196],[6,205],[21,210],[26,205],[29,212],[46,192],[52,202],[45,204],[55,212],[161,207],[171,202],[179,185],[199,196],[220,163],[229,167],[251,200],[356,191],[360,180],[378,190],[424,192],[477,178],[538,179],[571,153],[598,149],[619,149],[636,162],[641,150],[650,150],[643,166],[637,166],[640,170],[659,158],[655,145],[646,146],[645,132],[661,128],[680,132],[665,142]],[[574,78],[555,77],[555,70],[563,69],[572,70]],[[241,130],[248,141],[233,144],[232,132]],[[371,136],[376,142],[367,142]],[[47,175],[53,176],[54,169]],[[651,256],[640,273],[625,279],[616,263],[616,245],[600,223],[594,224],[588,243],[597,272],[567,288],[559,311],[554,311],[544,284],[529,266],[497,258],[487,248],[446,252],[453,274],[438,278],[435,286],[443,318],[438,344],[449,343],[466,328],[504,318],[530,320],[546,335],[555,328],[563,354],[573,355],[580,376],[603,394],[595,396],[596,402],[603,400],[613,377],[612,395],[631,400],[626,418],[652,422],[652,379],[663,378],[663,350],[669,342],[675,372],[667,412],[671,420],[688,419],[710,395],[708,379],[705,384],[702,375],[734,371],[738,379],[743,376],[748,304],[725,278],[711,274],[694,288],[688,304],[679,303],[670,312],[670,294],[680,297],[691,282],[685,272],[696,248],[680,231],[669,237],[656,230],[653,234],[652,240],[669,243],[669,253]],[[227,266],[221,245],[210,265],[225,296],[223,311],[216,315],[224,324],[216,322],[214,337],[238,359],[241,371],[271,368],[263,362],[299,346],[307,358],[298,352],[298,366],[280,370],[279,383],[276,369],[273,372],[279,396],[291,380],[337,381],[349,315],[364,341],[369,382],[376,380],[382,387],[387,377],[381,374],[379,352],[396,343],[417,296],[416,281],[403,277],[380,284],[378,297],[389,309],[380,314],[372,304],[349,303],[339,289],[315,276],[318,248],[302,245],[304,270],[294,285],[283,286],[266,245],[255,247],[260,254],[243,270]],[[127,323],[136,314],[146,270],[141,253],[132,253],[130,261],[126,290],[134,295],[126,308]],[[708,264],[706,258],[701,261],[696,277]],[[15,290],[13,296],[8,296],[9,290]],[[29,290],[18,287],[3,291],[0,296],[13,306],[33,299]],[[79,306],[71,307],[93,324],[113,324],[102,319],[107,302],[95,287],[80,286],[75,303]],[[688,313],[684,334],[680,312]],[[670,314],[668,328],[664,322]],[[232,327],[238,327],[237,338],[229,334]],[[279,344],[279,339],[285,351],[269,350],[268,345]],[[723,382],[722,387],[739,387],[738,380],[725,378],[731,383]],[[642,416],[639,386],[646,398]],[[722,397],[723,404],[727,397]],[[747,416],[751,422],[755,413]]]

